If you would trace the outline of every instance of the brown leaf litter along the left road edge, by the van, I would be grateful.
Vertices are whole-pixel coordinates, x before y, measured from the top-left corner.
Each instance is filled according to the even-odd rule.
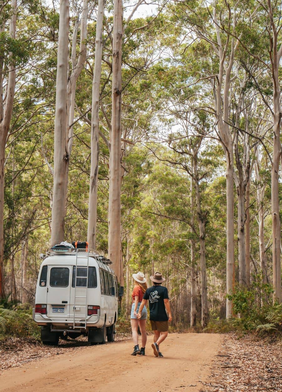
[[[130,338],[130,334],[116,334],[116,341]],[[0,369],[17,367],[26,362],[63,354],[89,346],[87,337],[60,339],[58,346],[44,346],[33,338],[7,338],[0,341]],[[0,373],[1,374],[1,373]]]

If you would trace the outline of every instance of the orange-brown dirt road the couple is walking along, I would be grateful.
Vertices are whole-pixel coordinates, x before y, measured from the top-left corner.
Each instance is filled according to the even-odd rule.
[[[130,356],[132,341],[81,347],[40,361],[4,370],[0,391],[44,392],[196,392],[207,381],[220,350],[217,334],[170,334],[155,358],[148,336],[146,356]]]

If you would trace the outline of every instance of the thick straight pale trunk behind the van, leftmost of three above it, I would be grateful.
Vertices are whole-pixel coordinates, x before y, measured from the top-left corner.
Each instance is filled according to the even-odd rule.
[[[51,231],[52,246],[64,240],[65,181],[66,169],[69,161],[66,140],[69,20],[69,0],[60,0],[54,129],[54,186]]]

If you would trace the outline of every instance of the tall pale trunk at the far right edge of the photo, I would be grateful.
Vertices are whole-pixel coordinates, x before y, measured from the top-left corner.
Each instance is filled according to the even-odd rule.
[[[281,225],[279,216],[279,162],[281,156],[280,142],[280,85],[279,65],[282,55],[282,45],[278,51],[278,30],[273,18],[271,1],[268,0],[269,16],[271,18],[271,29],[273,32],[271,49],[272,82],[273,82],[273,157],[271,165],[271,215],[272,215],[272,265],[273,265],[273,303],[281,303]]]

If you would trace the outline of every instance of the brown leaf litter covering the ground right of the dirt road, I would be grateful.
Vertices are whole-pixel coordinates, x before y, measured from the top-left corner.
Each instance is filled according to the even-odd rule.
[[[282,391],[282,343],[228,334],[201,392]]]

